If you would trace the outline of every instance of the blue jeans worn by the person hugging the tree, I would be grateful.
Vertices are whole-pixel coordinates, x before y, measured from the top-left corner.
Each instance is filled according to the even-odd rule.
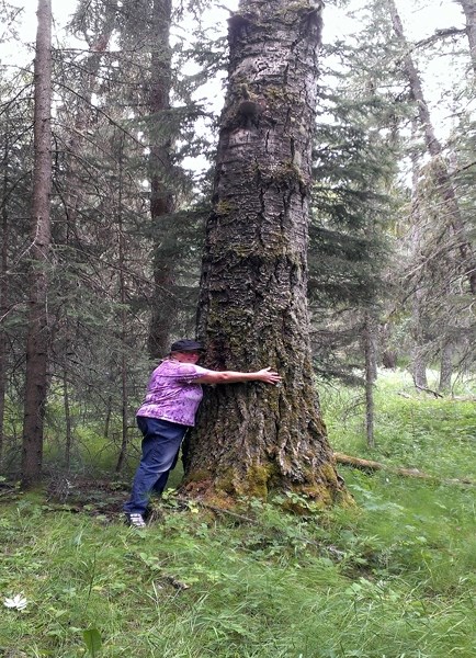
[[[144,416],[137,417],[137,426],[144,435],[143,455],[134,477],[131,498],[124,506],[124,511],[128,514],[144,514],[150,494],[154,491],[160,495],[163,491],[189,429],[175,422]]]

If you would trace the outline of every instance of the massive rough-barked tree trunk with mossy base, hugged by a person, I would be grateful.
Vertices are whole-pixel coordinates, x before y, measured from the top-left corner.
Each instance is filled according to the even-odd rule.
[[[306,300],[320,29],[311,1],[242,1],[229,19],[197,328],[209,367],[270,365],[283,384],[206,392],[186,460],[192,492],[345,495],[319,412]]]

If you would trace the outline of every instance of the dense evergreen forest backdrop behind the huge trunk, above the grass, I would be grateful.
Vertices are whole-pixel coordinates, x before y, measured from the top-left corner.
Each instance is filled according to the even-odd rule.
[[[417,389],[435,396],[473,372],[471,8],[422,2],[409,11],[403,3],[404,23],[390,1],[325,10],[311,342],[318,377],[362,386],[371,445],[378,366],[408,367]],[[15,474],[33,245],[34,46],[21,35],[33,8],[1,9],[0,460]],[[226,70],[225,25],[216,30],[211,16],[234,8],[61,3],[61,20],[65,9],[68,27],[55,33],[53,48],[52,243],[41,266],[48,282],[46,435],[55,468],[81,469],[84,446],[101,436],[121,472],[146,373],[172,339],[195,330]],[[438,25],[424,32],[428,10]],[[333,34],[326,35],[326,12]],[[154,43],[165,29],[170,48]],[[163,101],[157,70],[166,59]],[[428,381],[429,366],[435,381]]]

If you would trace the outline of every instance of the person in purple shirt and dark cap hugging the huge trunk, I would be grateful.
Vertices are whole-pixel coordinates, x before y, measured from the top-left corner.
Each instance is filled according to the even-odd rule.
[[[253,373],[202,367],[197,361],[203,351],[203,345],[195,340],[178,340],[150,376],[146,397],[136,415],[143,443],[131,497],[124,504],[129,525],[145,527],[150,495],[160,495],[166,488],[182,440],[195,424],[203,397],[202,384],[264,382],[275,385],[281,382],[281,376],[270,367]]]

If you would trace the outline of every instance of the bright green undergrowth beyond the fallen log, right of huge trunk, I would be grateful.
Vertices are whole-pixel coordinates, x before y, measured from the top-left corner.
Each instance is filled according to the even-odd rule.
[[[458,397],[418,393],[408,374],[381,375],[374,388],[375,447],[366,445],[363,394],[324,388],[322,412],[332,447],[439,478],[476,479],[476,385]]]

